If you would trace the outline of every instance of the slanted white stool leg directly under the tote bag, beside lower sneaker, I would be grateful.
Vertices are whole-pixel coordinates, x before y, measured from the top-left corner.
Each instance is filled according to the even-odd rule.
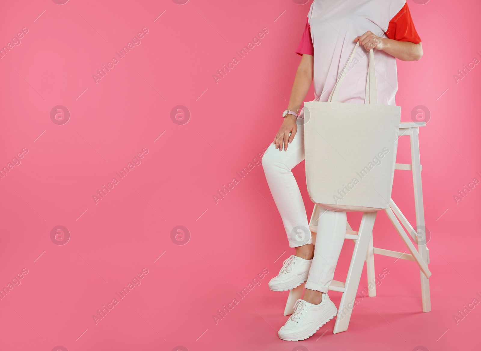
[[[369,247],[369,240],[372,235],[372,228],[376,220],[376,214],[377,212],[364,212],[362,216],[361,225],[357,233],[359,237],[354,245],[353,258],[351,259],[349,271],[347,272],[344,292],[342,293],[341,303],[339,304],[333,334],[346,331],[349,325],[367,248]]]

